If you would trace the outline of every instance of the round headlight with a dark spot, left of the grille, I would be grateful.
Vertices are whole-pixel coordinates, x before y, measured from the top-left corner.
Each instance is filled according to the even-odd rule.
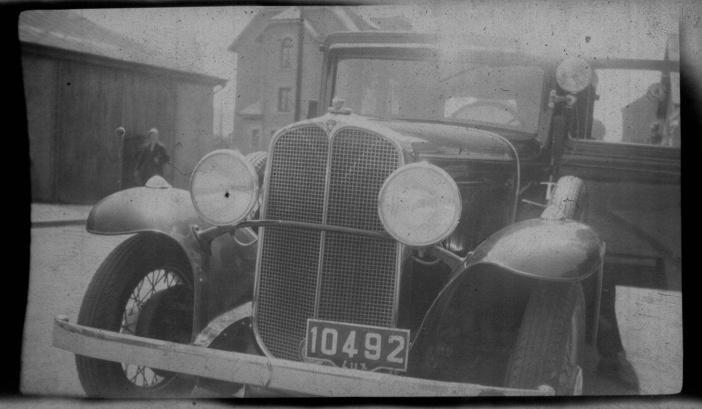
[[[210,152],[192,172],[190,197],[197,214],[208,223],[225,226],[240,222],[258,198],[256,170],[239,152]]]

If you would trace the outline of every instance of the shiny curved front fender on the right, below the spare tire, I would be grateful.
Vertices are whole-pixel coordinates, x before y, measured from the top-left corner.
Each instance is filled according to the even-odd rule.
[[[594,229],[574,220],[525,220],[499,230],[480,243],[453,271],[413,338],[409,373],[420,376],[426,348],[446,306],[479,267],[546,281],[581,281],[602,267],[604,242]]]

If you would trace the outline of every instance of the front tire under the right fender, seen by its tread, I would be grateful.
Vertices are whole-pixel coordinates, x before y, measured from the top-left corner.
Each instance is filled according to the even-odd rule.
[[[577,356],[571,362],[567,348],[574,316]],[[541,281],[527,303],[505,384],[521,389],[549,385],[556,395],[571,395],[578,368],[582,376],[584,347],[585,297],[580,283]]]

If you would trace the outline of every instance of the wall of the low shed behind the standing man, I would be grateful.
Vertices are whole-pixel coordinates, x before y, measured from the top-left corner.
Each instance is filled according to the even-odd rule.
[[[164,176],[176,187],[187,189],[181,173],[212,149],[211,83],[31,45],[22,68],[34,201],[91,203],[130,187],[119,126],[130,136],[159,128],[175,167],[166,164]]]

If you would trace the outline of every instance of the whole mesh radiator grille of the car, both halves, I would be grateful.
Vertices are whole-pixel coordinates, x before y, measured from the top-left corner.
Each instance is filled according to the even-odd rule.
[[[326,131],[317,126],[277,138],[264,217],[383,232],[378,192],[399,167],[399,152],[364,130],[343,129],[331,141],[330,147]],[[256,329],[272,356],[300,360],[308,318],[395,324],[395,241],[266,227],[260,246]]]

